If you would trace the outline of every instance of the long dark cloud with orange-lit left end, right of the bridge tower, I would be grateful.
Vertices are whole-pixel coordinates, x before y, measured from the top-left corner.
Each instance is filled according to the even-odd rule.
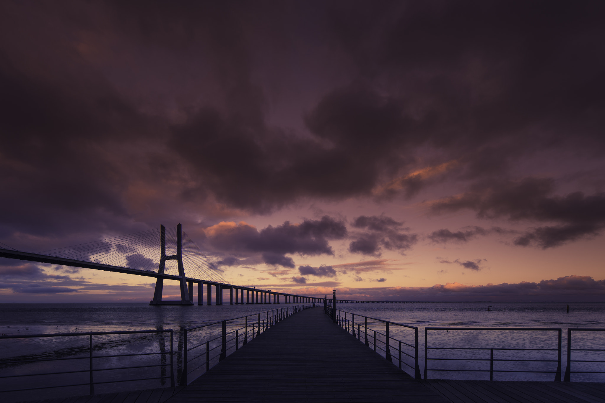
[[[257,228],[240,222],[240,224],[215,225],[206,229],[206,244],[221,251],[239,251],[262,253],[265,263],[294,268],[291,257],[286,253],[304,255],[333,254],[329,245],[331,239],[342,239],[347,236],[344,222],[329,216],[319,220],[304,219],[301,224],[291,224]]]

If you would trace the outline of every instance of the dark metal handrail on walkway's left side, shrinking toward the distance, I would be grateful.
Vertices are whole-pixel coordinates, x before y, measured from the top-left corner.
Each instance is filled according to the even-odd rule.
[[[241,346],[245,346],[249,341],[254,340],[261,333],[268,330],[270,327],[275,325],[284,318],[290,315],[300,312],[304,309],[312,308],[311,304],[304,305],[293,305],[285,308],[271,309],[270,311],[258,312],[257,314],[251,314],[241,316],[237,318],[220,320],[212,323],[202,324],[200,326],[189,327],[183,330],[183,367],[180,371],[178,384],[181,386],[187,385],[189,375],[194,371],[205,366],[205,371],[211,369],[217,362],[223,361],[227,355],[231,354],[232,349],[238,350]],[[269,314],[270,313],[270,314]],[[264,318],[261,316],[264,315]],[[253,317],[254,320],[249,323],[248,318]],[[244,323],[234,323],[229,326],[232,327],[227,331],[227,322],[242,320]],[[190,346],[190,332],[200,329],[208,329],[209,326],[221,324],[220,335],[216,337],[204,338],[203,341],[196,341],[195,346]],[[235,327],[234,327],[235,326]],[[251,327],[251,329],[249,329]],[[243,334],[240,335],[240,331],[244,330]],[[235,334],[235,335],[234,335]],[[230,337],[231,336],[231,337]],[[241,341],[240,341],[241,338]],[[205,346],[205,349],[202,347]],[[220,347],[220,352],[217,352],[214,356],[211,356],[211,352]],[[201,352],[196,350],[201,349]],[[195,356],[189,357],[189,353],[195,350]],[[203,358],[203,361],[196,361]],[[217,360],[218,359],[218,360]],[[196,361],[194,363],[194,361]],[[213,363],[214,361],[214,363]],[[190,366],[195,366],[193,369],[189,369]],[[204,372],[205,372],[204,371]],[[201,375],[201,374],[200,374]]]

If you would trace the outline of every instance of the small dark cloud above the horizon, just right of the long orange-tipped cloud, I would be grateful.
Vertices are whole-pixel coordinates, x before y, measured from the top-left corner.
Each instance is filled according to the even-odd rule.
[[[349,243],[348,250],[374,256],[378,256],[382,248],[403,253],[418,240],[417,234],[402,233],[409,231],[409,228],[402,228],[403,224],[387,216],[359,216],[353,220],[353,227],[369,232],[354,234],[355,240]]]

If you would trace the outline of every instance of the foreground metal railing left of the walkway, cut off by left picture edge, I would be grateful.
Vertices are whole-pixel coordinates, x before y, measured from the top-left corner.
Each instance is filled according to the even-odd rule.
[[[152,334],[152,333],[169,333],[170,334],[170,350],[166,350],[165,347],[162,347],[160,344],[159,352],[151,352],[151,353],[130,353],[130,354],[113,354],[113,355],[93,355],[94,344],[93,344],[93,336],[99,335],[123,335],[123,334]],[[55,334],[38,334],[38,335],[11,335],[11,336],[0,336],[0,339],[19,339],[19,338],[42,338],[42,337],[73,337],[73,336],[88,336],[88,355],[87,356],[77,356],[77,357],[68,357],[68,358],[41,358],[41,359],[2,359],[0,360],[1,365],[15,365],[15,364],[31,364],[31,363],[47,363],[50,361],[63,361],[70,364],[70,367],[73,366],[72,360],[87,360],[88,361],[88,369],[80,369],[80,370],[67,370],[67,371],[59,371],[59,372],[42,372],[42,373],[21,373],[19,375],[5,375],[0,376],[0,379],[3,381],[9,378],[22,378],[25,376],[49,376],[49,375],[65,375],[65,374],[76,374],[88,372],[88,382],[76,383],[76,384],[61,384],[61,385],[51,385],[51,386],[42,386],[42,387],[28,387],[28,388],[16,388],[10,390],[0,390],[0,392],[22,392],[25,390],[38,390],[38,389],[48,389],[48,388],[58,388],[58,387],[75,387],[75,386],[86,386],[90,387],[90,394],[94,395],[94,385],[99,384],[110,384],[115,382],[134,382],[134,381],[149,381],[152,379],[170,379],[171,387],[174,387],[174,372],[172,370],[172,329],[167,330],[126,330],[122,332],[82,332],[82,333],[55,333]],[[132,357],[135,356],[150,356],[150,355],[160,355],[160,363],[152,364],[152,365],[142,365],[142,366],[132,366],[132,364],[128,364],[128,366],[124,367],[95,367],[94,361],[99,358],[118,358],[118,357],[128,357],[128,362],[132,363]],[[166,363],[166,356],[170,356],[170,362]],[[101,371],[111,371],[111,370],[125,370],[125,369],[140,369],[140,368],[151,368],[151,367],[160,367],[160,376],[155,376],[151,378],[136,378],[136,379],[117,379],[113,381],[103,381],[96,382],[94,381],[94,374]],[[166,376],[166,367],[169,367],[170,375]],[[65,377],[62,377],[65,378]],[[7,384],[7,382],[2,382],[3,384]]]

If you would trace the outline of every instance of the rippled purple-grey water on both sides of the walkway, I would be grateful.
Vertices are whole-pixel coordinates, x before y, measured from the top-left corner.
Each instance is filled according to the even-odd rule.
[[[492,305],[491,311],[486,311]],[[191,327],[212,323],[226,318],[241,317],[273,308],[284,308],[290,305],[223,305],[223,306],[149,306],[144,303],[62,303],[62,304],[0,304],[0,334],[50,334],[70,332],[107,332],[119,330],[150,330],[174,329],[174,349],[181,346],[181,327]],[[356,315],[390,320],[419,327],[419,364],[424,371],[424,337],[425,327],[560,327],[563,329],[563,368],[566,367],[566,330],[567,327],[605,327],[605,303],[571,303],[569,313],[564,303],[378,303],[339,304],[338,309],[353,312]],[[348,315],[350,318],[351,315]],[[361,320],[360,320],[361,319]],[[356,324],[364,329],[364,321],[357,317]],[[373,337],[373,330],[384,332],[384,324],[370,320],[368,322],[368,337]],[[364,332],[364,330],[362,330]],[[391,336],[407,343],[413,343],[414,332],[407,328],[391,326]],[[365,332],[364,332],[365,333]],[[378,335],[378,339],[380,336]],[[574,334],[574,348],[605,349],[605,332],[586,332]],[[0,358],[26,359],[41,358],[73,358],[73,361],[54,361],[53,363],[0,364],[0,376],[25,373],[57,372],[63,370],[60,364],[70,363],[68,370],[85,370],[88,368],[88,337],[43,338],[0,340]],[[395,343],[396,344],[396,343]],[[428,346],[430,347],[500,347],[500,348],[543,348],[556,349],[558,344],[557,332],[487,332],[466,330],[428,330]],[[378,342],[380,345],[380,342]],[[383,344],[384,345],[384,344]],[[406,350],[408,348],[408,350]],[[132,352],[157,352],[169,350],[169,337],[160,334],[137,334],[117,336],[96,336],[94,339],[94,355],[117,355]],[[409,347],[404,352],[412,352]],[[397,356],[398,352],[393,352]],[[460,355],[462,354],[462,355]],[[600,359],[603,352],[577,352],[574,359]],[[577,355],[576,355],[577,354]],[[489,359],[489,350],[429,350],[430,358],[480,358]],[[149,363],[159,364],[158,355],[130,358],[131,366],[142,366]],[[166,359],[166,356],[163,356]],[[495,359],[557,359],[557,352],[543,351],[512,351],[495,350]],[[152,362],[152,359],[155,361]],[[117,358],[102,359],[106,362],[100,367],[123,366]],[[167,361],[162,361],[166,363]],[[413,364],[413,360],[404,362]],[[176,366],[175,362],[175,366]],[[557,363],[540,361],[522,363],[514,361],[497,361],[494,369],[500,370],[549,370]],[[429,361],[429,368],[439,369],[489,369],[489,361]],[[583,367],[581,367],[583,366]],[[405,366],[404,366],[405,367]],[[603,363],[578,363],[574,370],[605,370]],[[162,367],[146,370],[100,371],[95,373],[95,380],[116,381],[126,377],[128,373],[137,371],[140,378],[165,376]],[[110,375],[111,373],[111,375]],[[408,370],[408,373],[412,371]],[[36,382],[62,382],[65,375],[56,378],[24,376],[22,378],[0,378],[0,390],[18,388],[19,385],[48,385]],[[88,382],[88,372],[69,375],[73,383]],[[489,379],[485,372],[445,372],[429,371],[431,379]],[[486,378],[487,377],[487,378]],[[44,378],[44,381],[40,379]],[[494,373],[494,379],[545,380],[554,379],[552,373]],[[572,374],[574,381],[605,381],[603,374]],[[63,381],[64,382],[64,381]],[[160,381],[123,382],[123,384],[97,385],[96,393],[114,392],[118,390],[133,390],[137,388],[168,386],[165,379]],[[4,401],[52,398],[58,396],[86,395],[87,386],[72,388],[45,389],[44,392],[3,393]]]

